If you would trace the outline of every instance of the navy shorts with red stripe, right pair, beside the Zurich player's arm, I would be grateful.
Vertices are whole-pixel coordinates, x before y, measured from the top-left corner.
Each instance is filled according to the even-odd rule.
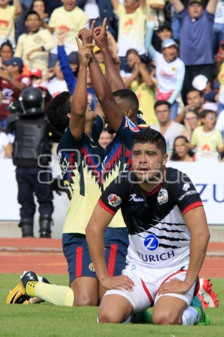
[[[126,227],[107,227],[104,232],[105,261],[110,276],[119,276],[126,267],[129,246]]]

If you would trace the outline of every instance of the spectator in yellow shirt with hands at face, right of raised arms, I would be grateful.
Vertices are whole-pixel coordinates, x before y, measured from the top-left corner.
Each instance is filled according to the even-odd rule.
[[[158,124],[154,111],[156,80],[147,66],[141,62],[135,49],[129,49],[126,58],[129,67],[132,69],[132,75],[125,81],[125,86],[138,97],[139,110],[142,111],[146,124]]]

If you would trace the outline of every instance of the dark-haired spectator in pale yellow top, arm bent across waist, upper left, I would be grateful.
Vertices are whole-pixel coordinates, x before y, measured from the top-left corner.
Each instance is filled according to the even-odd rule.
[[[30,69],[40,69],[43,74],[48,69],[49,51],[54,47],[54,39],[47,29],[39,29],[41,20],[35,11],[29,11],[25,25],[28,33],[19,36],[15,55],[21,57]]]

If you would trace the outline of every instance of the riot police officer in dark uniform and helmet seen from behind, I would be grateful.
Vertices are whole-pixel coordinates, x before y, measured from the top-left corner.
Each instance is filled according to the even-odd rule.
[[[20,208],[19,227],[23,237],[33,236],[36,205],[39,203],[40,237],[51,237],[51,215],[53,213],[51,160],[51,129],[43,112],[44,97],[40,89],[29,87],[19,96],[21,112],[9,120],[8,132],[14,131],[12,160],[16,166],[18,203]]]

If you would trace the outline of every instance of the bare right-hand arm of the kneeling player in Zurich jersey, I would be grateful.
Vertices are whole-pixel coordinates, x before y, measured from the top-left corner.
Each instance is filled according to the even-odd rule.
[[[184,219],[190,231],[190,263],[185,278],[190,289],[203,265],[210,233],[203,206],[188,211]]]

